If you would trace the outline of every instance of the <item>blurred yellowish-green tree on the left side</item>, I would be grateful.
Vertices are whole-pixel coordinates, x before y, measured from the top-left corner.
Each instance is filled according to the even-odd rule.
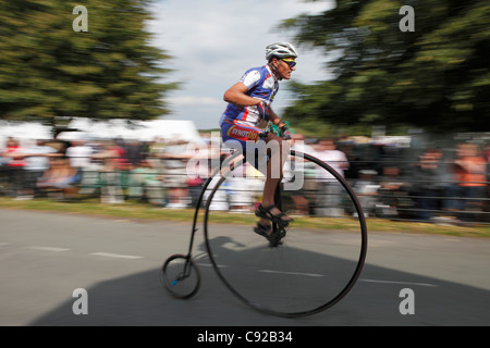
[[[150,120],[168,111],[159,82],[170,59],[148,44],[148,0],[83,1],[88,32],[75,32],[63,0],[0,2],[0,119]]]

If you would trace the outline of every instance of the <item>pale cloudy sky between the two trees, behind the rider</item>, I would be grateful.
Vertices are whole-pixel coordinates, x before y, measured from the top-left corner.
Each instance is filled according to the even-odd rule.
[[[333,7],[333,0],[157,0],[148,30],[151,45],[173,57],[164,82],[181,82],[166,96],[171,110],[167,120],[191,120],[198,129],[218,128],[226,107],[224,91],[250,67],[266,64],[269,44],[292,41],[293,33],[278,29],[281,21],[302,13],[315,14]],[[293,42],[293,41],[292,41]],[[298,47],[292,79],[311,83],[329,78],[326,57]],[[282,115],[292,97],[281,82],[273,109]],[[286,117],[286,115],[284,115]]]

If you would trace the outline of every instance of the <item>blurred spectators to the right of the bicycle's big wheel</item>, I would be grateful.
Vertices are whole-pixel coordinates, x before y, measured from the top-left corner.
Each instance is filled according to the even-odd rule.
[[[448,224],[490,222],[488,144],[416,149],[375,145],[360,151],[346,146],[346,176],[366,214]]]

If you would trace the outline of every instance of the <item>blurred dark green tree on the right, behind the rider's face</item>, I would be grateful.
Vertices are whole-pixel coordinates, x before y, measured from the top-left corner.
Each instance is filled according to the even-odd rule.
[[[331,80],[293,84],[287,112],[350,124],[408,124],[430,130],[485,130],[490,114],[490,3],[485,0],[338,1],[281,27],[303,46],[334,55]],[[415,32],[402,32],[403,5]],[[298,65],[301,69],[301,65]]]

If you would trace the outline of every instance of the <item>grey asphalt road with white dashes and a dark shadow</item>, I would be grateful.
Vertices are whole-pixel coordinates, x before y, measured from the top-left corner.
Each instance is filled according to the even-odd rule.
[[[203,276],[200,290],[188,300],[170,296],[160,283],[160,266],[170,254],[187,251],[188,223],[16,210],[0,210],[0,325],[490,324],[489,239],[371,232],[365,268],[351,293],[324,312],[286,319],[255,311],[223,286],[207,262],[200,232],[195,247]],[[249,227],[219,225],[216,231],[223,236],[230,231],[254,235]],[[321,247],[311,240],[310,247]],[[348,237],[345,241],[332,249],[347,250],[344,247],[350,245]],[[283,249],[265,247],[259,251],[266,256],[275,252],[280,256],[275,260],[281,262],[298,256],[294,263],[311,265],[314,274],[314,265],[320,262],[311,258],[319,253],[299,252],[302,245],[287,249],[286,243]],[[228,253],[231,263],[240,256],[247,254],[240,250]],[[245,257],[242,259],[250,259]],[[321,258],[327,260],[324,254]],[[244,274],[237,273],[238,278]],[[295,274],[299,272],[274,276],[291,282]],[[250,276],[240,286],[245,291],[267,290],[274,279],[257,284]],[[310,288],[315,287],[303,287]],[[74,295],[76,289],[86,290],[86,314],[74,313],[75,307],[82,308],[76,304],[82,298]],[[411,289],[412,295],[406,297],[403,289]],[[408,299],[413,300],[409,306]],[[402,314],[401,307],[413,312]]]

